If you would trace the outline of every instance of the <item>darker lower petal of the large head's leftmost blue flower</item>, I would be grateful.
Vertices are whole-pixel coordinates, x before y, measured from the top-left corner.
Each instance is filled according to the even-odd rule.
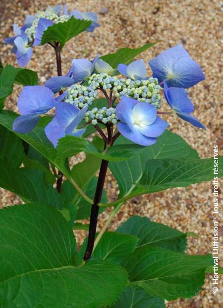
[[[40,114],[26,114],[15,119],[12,125],[14,132],[20,134],[29,133],[40,121]]]

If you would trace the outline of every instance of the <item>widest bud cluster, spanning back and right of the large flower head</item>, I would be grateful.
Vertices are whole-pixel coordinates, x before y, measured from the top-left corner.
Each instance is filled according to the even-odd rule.
[[[96,90],[102,88],[104,90],[110,89],[115,97],[126,95],[139,101],[144,101],[155,105],[157,108],[161,107],[161,86],[158,84],[158,79],[149,77],[143,80],[131,80],[125,78],[111,77],[106,73],[93,74],[88,84]]]

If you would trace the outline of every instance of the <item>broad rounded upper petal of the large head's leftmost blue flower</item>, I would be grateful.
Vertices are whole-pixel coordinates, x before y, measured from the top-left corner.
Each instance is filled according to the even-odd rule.
[[[18,108],[21,115],[29,114],[39,107],[55,106],[54,93],[45,86],[27,85],[18,98]]]

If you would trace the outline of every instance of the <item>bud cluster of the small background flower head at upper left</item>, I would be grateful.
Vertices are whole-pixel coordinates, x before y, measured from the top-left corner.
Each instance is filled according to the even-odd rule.
[[[55,13],[52,13],[49,11],[46,11],[46,12],[38,11],[37,17],[33,21],[31,27],[25,30],[25,34],[28,37],[29,42],[32,42],[35,39],[36,28],[38,26],[38,22],[40,18],[46,18],[46,19],[52,20],[54,23],[59,23],[59,22],[67,21],[70,17],[68,15],[58,16]]]

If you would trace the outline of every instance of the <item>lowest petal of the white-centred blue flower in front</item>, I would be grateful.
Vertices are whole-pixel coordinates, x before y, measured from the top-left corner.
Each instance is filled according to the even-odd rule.
[[[118,122],[117,129],[125,138],[141,146],[151,146],[157,142],[156,138],[146,137],[138,129],[131,131],[125,123]]]

